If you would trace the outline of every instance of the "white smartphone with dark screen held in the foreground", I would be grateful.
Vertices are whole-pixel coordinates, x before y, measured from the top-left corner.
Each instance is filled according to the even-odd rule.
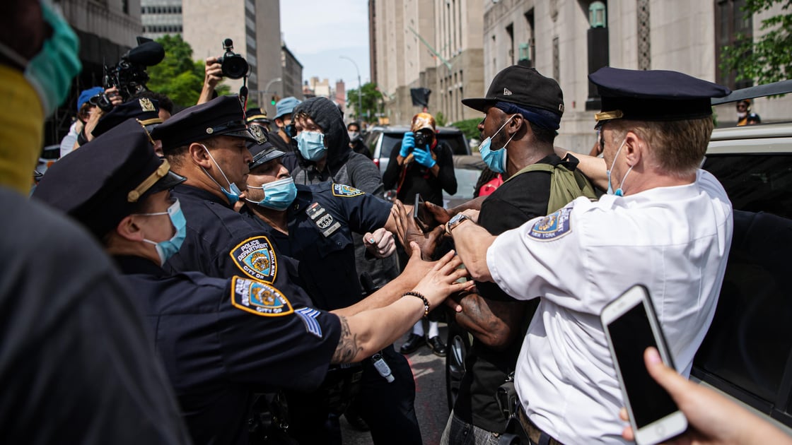
[[[674,367],[646,287],[636,284],[608,303],[600,316],[638,445],[661,443],[687,429],[671,396],[646,371],[643,355],[653,346]]]

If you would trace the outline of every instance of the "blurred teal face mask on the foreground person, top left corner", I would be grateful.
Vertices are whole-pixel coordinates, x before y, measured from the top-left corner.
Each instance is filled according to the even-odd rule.
[[[0,44],[0,53],[25,67],[25,79],[39,95],[44,116],[50,116],[55,108],[66,100],[71,88],[71,79],[82,70],[78,55],[79,40],[63,17],[55,11],[51,2],[41,2],[42,15],[52,35],[41,46],[41,51],[30,60],[25,60],[17,51]]]

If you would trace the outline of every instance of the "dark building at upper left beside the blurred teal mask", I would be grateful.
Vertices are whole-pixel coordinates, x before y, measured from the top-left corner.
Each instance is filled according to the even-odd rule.
[[[45,125],[45,143],[59,143],[66,135],[76,111],[77,97],[82,89],[101,86],[103,67],[115,65],[129,49],[137,46],[141,35],[141,0],[62,0],[58,3],[63,17],[80,39],[82,73],[74,79],[67,101]]]

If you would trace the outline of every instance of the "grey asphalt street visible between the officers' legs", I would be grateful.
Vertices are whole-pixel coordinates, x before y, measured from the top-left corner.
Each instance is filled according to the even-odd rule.
[[[440,338],[445,340],[447,327],[440,323]],[[394,344],[396,350],[407,339],[407,334]],[[424,445],[437,445],[448,420],[448,403],[445,390],[445,359],[432,354],[428,347],[413,352],[409,359],[415,376],[415,411],[421,425]],[[371,435],[358,432],[341,416],[341,433],[345,445],[368,445]]]

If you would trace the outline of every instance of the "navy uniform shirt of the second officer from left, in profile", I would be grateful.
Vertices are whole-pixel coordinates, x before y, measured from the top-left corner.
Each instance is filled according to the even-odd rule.
[[[280,255],[260,224],[201,188],[179,184],[171,195],[181,203],[187,234],[181,249],[166,262],[167,271],[203,272],[216,278],[244,276],[280,289],[291,287],[289,299],[310,305],[305,291],[292,286],[300,283],[296,261]]]

